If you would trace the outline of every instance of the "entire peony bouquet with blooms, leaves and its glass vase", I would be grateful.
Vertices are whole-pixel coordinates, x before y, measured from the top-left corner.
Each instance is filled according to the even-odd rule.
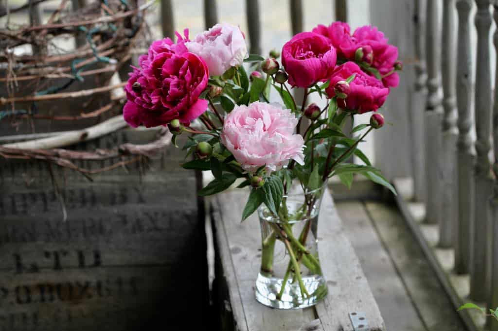
[[[186,29],[177,38],[153,42],[139,58],[125,86],[124,119],[133,127],[167,125],[175,146],[178,135],[189,134],[183,149],[195,159],[182,166],[214,175],[201,195],[243,178],[238,187],[251,190],[242,220],[258,210],[262,222],[256,298],[278,308],[314,304],[326,294],[315,246],[328,178],[350,187],[360,173],[393,190],[358,145],[384,124],[376,111],[399,82],[397,48],[375,27],[351,34],[343,22],[295,35],[282,48],[281,65],[276,51],[267,59],[248,55],[244,33],[229,24],[192,40]],[[303,89],[302,102],[292,88]],[[272,90],[282,103],[269,101]],[[313,93],[323,105],[307,104]],[[366,112],[373,112],[370,124],[352,129],[365,133],[346,135],[347,117]],[[364,164],[346,163],[353,155]],[[288,258],[280,271],[276,242]]]

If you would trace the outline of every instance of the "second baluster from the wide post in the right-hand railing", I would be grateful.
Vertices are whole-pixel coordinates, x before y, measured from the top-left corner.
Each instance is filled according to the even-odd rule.
[[[439,66],[441,38],[438,25],[437,0],[427,0],[426,65],[427,103],[425,111],[425,158],[427,175],[426,221],[440,224],[441,219],[441,98],[439,97]]]

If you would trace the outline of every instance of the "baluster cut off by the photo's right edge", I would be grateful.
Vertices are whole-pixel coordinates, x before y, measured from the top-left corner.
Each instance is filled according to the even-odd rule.
[[[498,25],[498,2],[494,5],[494,18],[495,24]],[[495,53],[498,54],[498,30],[495,31],[493,36],[493,41],[495,44]],[[498,64],[498,57],[497,57]],[[495,71],[495,86],[498,86],[498,71]],[[495,88],[495,103],[493,107],[493,140],[495,147],[495,164],[493,165],[493,171],[495,172],[495,177],[498,174],[498,89]],[[491,206],[493,208],[493,262],[491,269],[491,295],[488,307],[495,309],[498,307],[498,180],[495,181],[495,186],[493,190],[493,199]],[[498,322],[495,319],[490,321],[490,331],[498,331]]]

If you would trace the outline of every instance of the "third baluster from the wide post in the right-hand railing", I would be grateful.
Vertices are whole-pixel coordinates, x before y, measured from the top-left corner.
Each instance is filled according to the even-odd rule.
[[[441,47],[441,76],[443,78],[443,136],[442,136],[442,210],[439,226],[439,246],[453,246],[453,228],[456,223],[457,122],[455,99],[456,34],[455,0],[443,2],[443,36]]]

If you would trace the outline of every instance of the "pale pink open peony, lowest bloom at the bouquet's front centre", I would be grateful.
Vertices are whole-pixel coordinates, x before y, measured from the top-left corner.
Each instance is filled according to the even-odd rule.
[[[248,171],[266,165],[278,170],[289,160],[304,164],[303,137],[294,133],[298,119],[278,104],[236,106],[225,118],[221,141]]]

